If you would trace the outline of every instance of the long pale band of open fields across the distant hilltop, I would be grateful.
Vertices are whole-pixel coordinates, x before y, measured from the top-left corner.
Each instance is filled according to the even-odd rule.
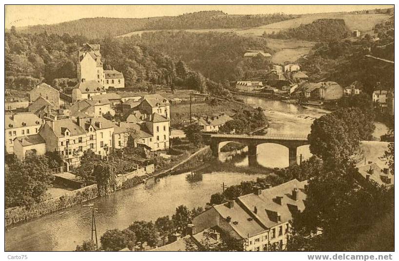
[[[344,19],[346,25],[350,30],[360,30],[361,32],[370,32],[373,27],[389,18],[388,15],[382,14],[343,14],[343,13],[322,13],[322,14],[308,14],[303,15],[299,18],[285,20],[277,23],[271,23],[267,25],[262,25],[253,28],[216,28],[216,29],[185,29],[184,31],[192,33],[207,33],[207,32],[218,32],[218,33],[228,33],[234,32],[240,36],[261,36],[264,32],[271,34],[273,32],[279,32],[280,30],[295,28],[301,24],[312,23],[317,19]],[[178,32],[180,30],[146,30],[146,31],[136,31],[128,34],[120,35],[117,37],[130,37],[132,35],[141,35],[145,32],[157,32],[157,31],[170,31]]]

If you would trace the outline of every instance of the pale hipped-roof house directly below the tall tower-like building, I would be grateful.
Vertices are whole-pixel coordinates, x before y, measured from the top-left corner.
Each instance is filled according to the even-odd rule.
[[[80,100],[87,100],[95,95],[105,94],[107,91],[97,81],[85,78],[80,79],[79,83],[72,89],[72,101],[75,103]]]

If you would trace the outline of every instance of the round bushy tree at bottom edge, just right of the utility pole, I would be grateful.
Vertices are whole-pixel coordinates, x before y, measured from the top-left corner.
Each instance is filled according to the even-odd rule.
[[[105,251],[119,251],[127,247],[128,244],[134,245],[135,235],[130,230],[111,229],[102,234],[100,242],[101,248]]]

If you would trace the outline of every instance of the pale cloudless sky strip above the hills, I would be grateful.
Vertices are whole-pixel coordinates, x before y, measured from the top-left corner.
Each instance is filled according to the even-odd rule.
[[[389,8],[389,5],[6,5],[5,28],[52,24],[92,17],[145,18],[178,16],[204,10],[229,15],[309,14]]]

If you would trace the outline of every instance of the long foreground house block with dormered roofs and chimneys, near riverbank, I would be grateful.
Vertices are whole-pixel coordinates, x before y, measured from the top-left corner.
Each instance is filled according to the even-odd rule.
[[[269,186],[269,185],[268,185]],[[192,221],[196,231],[221,230],[242,240],[244,251],[285,249],[293,215],[305,208],[307,181],[294,179],[238,197],[199,214]]]

